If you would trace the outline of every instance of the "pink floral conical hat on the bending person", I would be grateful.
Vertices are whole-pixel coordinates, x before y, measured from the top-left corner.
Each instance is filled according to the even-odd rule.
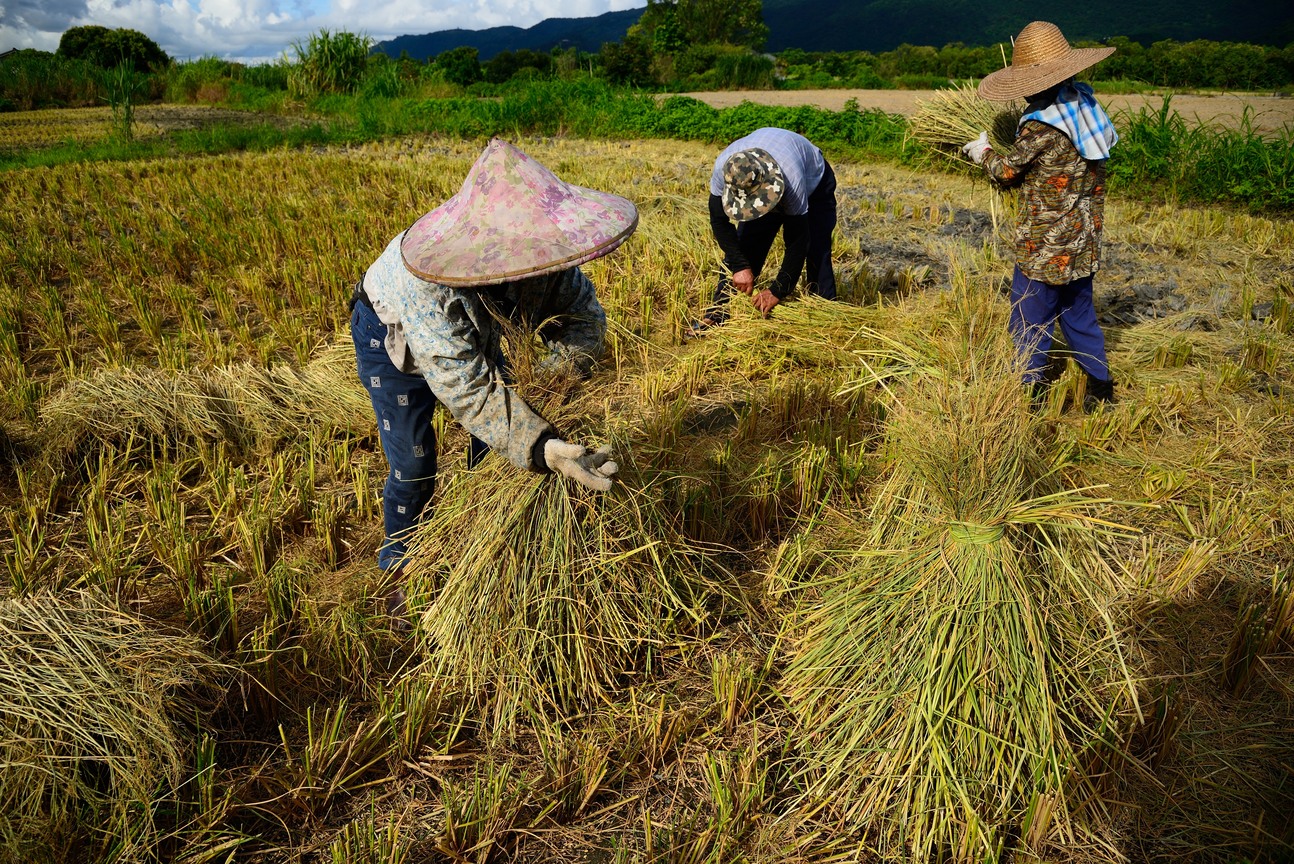
[[[494,138],[462,189],[405,232],[400,254],[428,282],[498,285],[591,261],[635,228],[633,202],[564,182]]]

